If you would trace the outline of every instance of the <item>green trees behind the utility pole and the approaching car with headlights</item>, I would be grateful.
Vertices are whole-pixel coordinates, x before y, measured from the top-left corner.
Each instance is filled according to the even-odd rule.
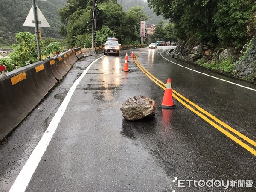
[[[67,41],[73,46],[91,46],[91,2],[68,0],[67,5],[59,11],[61,21],[65,24],[62,34],[67,36]],[[123,12],[122,6],[116,0],[101,0],[97,3],[100,10],[96,22],[98,46],[113,35],[119,39],[120,44],[132,44],[139,39],[139,21],[148,19],[142,11],[143,7],[134,6]]]

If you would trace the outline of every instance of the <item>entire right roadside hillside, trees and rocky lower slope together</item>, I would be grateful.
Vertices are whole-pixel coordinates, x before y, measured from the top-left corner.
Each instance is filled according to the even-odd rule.
[[[256,82],[255,0],[148,0],[172,21],[176,57]],[[250,69],[250,70],[248,70]]]

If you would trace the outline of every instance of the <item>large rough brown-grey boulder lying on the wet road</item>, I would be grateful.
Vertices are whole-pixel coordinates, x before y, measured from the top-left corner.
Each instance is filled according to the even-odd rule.
[[[156,103],[153,99],[146,96],[134,96],[123,102],[120,110],[126,120],[134,121],[144,117],[155,115]]]

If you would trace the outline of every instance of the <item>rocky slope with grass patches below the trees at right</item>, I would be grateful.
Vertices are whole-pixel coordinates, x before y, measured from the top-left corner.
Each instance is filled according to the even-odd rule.
[[[256,83],[256,40],[254,39],[245,44],[240,52],[234,47],[211,49],[202,44],[187,45],[179,41],[172,56]]]

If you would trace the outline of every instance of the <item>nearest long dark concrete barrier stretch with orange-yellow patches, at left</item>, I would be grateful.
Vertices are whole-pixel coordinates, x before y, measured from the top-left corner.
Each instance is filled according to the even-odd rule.
[[[0,140],[41,102],[52,87],[84,57],[81,48],[68,50],[58,56],[21,67],[0,76]],[[78,55],[78,57],[77,57]]]

